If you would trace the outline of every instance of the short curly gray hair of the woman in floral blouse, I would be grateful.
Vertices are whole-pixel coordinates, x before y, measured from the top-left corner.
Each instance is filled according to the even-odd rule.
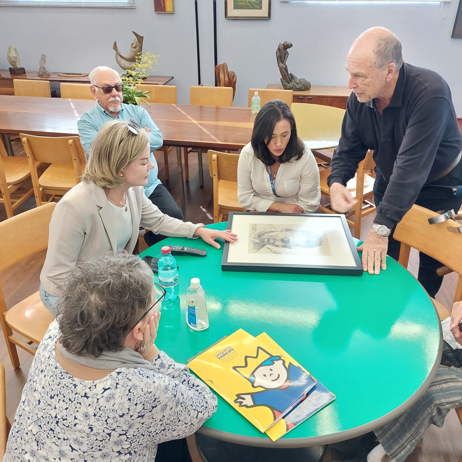
[[[58,304],[61,345],[69,353],[97,358],[120,351],[140,316],[149,309],[152,270],[122,251],[78,263]]]

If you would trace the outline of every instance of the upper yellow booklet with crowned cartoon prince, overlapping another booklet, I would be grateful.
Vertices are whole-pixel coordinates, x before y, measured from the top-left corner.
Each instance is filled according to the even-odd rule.
[[[196,356],[188,367],[265,432],[316,384],[309,373],[289,358],[279,346],[268,348],[266,343],[239,329]],[[285,424],[283,427],[286,430]]]

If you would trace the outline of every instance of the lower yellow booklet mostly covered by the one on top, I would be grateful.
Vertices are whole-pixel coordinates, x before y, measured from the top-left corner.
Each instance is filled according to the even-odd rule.
[[[266,332],[257,335],[256,339],[261,340],[265,345],[267,345],[268,351],[281,351],[281,347]],[[303,366],[299,365],[298,362],[288,354],[283,356],[282,359],[300,367],[303,371],[309,374]],[[324,406],[327,406],[331,401],[334,401],[334,399],[335,395],[322,385],[322,383],[316,381],[315,386],[310,389],[305,399],[300,401],[297,406],[293,407],[293,409],[286,413],[282,419],[269,427],[265,433],[273,441],[276,441],[287,432],[290,432],[292,428],[301,424],[304,420],[321,410]]]

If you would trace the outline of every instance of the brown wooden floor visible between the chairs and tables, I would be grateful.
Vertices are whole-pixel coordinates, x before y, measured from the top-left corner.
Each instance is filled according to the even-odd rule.
[[[24,155],[22,146],[19,143],[13,143],[13,148],[17,155]],[[176,170],[176,152],[175,149],[170,151],[170,181],[165,181],[164,177],[164,159],[162,153],[156,153],[159,165],[159,178],[169,189],[176,202],[179,203],[179,184]],[[212,223],[213,222],[213,188],[212,178],[208,174],[206,156],[204,156],[204,188],[199,187],[197,155],[189,156],[189,182],[186,183],[186,202],[187,214],[185,219],[195,223]],[[35,199],[32,197],[26,201],[15,212],[21,213],[25,210],[35,207]],[[363,220],[361,237],[370,229],[374,215],[369,215]],[[0,221],[6,219],[5,208],[0,204]],[[31,238],[33,232],[31,230]],[[0,236],[1,242],[1,236]],[[146,248],[144,240],[140,239],[140,251]],[[15,267],[0,272],[0,281],[8,307],[16,304],[19,300],[36,292],[39,287],[39,275],[43,266],[45,251],[34,257],[19,262]],[[417,275],[418,259],[415,251],[411,252],[409,268],[411,273]],[[456,288],[456,276],[448,274],[444,277],[441,290],[437,294],[437,299],[450,308],[454,291]],[[3,340],[0,340],[0,361],[5,365],[6,371],[6,412],[13,420],[16,407],[18,406],[21,391],[27,379],[32,357],[18,348],[21,367],[14,371],[12,369],[6,346]],[[399,377],[396,377],[399,380]],[[430,427],[421,442],[418,444],[413,453],[407,457],[406,462],[457,462],[462,454],[462,427],[457,419],[455,411],[451,411],[446,418],[444,426],[439,429]],[[344,460],[340,454],[328,449],[324,462]],[[194,456],[197,459],[197,456]]]

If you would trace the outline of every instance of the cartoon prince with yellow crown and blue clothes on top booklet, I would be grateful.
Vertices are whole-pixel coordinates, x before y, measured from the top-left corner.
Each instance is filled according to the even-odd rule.
[[[292,363],[286,365],[280,356],[273,356],[260,346],[255,356],[245,356],[244,365],[233,366],[233,369],[248,380],[252,387],[263,389],[255,393],[237,394],[234,402],[239,407],[269,407],[274,420],[306,395],[315,384],[313,378],[300,367]],[[300,422],[288,422],[286,419],[287,431]]]

